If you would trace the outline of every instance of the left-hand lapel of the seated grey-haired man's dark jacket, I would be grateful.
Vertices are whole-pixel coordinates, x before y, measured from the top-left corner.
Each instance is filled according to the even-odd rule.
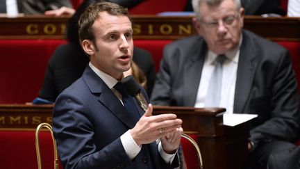
[[[184,106],[194,106],[196,102],[202,67],[207,51],[206,43],[203,40],[194,42],[194,44],[197,44],[197,46],[192,48],[194,51],[188,51],[191,56],[185,64],[183,72]]]

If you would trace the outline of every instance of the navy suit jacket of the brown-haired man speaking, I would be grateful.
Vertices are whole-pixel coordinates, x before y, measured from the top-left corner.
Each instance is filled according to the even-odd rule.
[[[135,104],[142,116],[144,112]],[[83,76],[58,96],[53,108],[53,131],[64,168],[170,168],[156,142],[142,145],[133,161],[128,158],[120,136],[135,123],[112,90],[87,66]],[[178,158],[173,164],[178,165]]]

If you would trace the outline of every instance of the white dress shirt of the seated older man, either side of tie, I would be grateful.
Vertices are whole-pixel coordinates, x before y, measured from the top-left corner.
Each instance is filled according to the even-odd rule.
[[[238,45],[238,48],[234,49],[233,51],[226,52],[225,56],[227,59],[223,63],[222,92],[219,107],[226,108],[226,113],[233,113],[235,82],[237,77],[241,42],[242,37],[240,38],[240,44]],[[206,54],[197,92],[196,103],[194,105],[195,107],[201,108],[206,106],[204,105],[204,101],[206,93],[208,92],[210,77],[215,70],[216,58],[217,54],[214,54],[213,51],[208,51]]]

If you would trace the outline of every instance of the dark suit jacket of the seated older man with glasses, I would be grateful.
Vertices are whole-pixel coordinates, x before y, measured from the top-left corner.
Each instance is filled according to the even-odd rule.
[[[233,113],[258,114],[250,126],[255,145],[293,142],[300,131],[299,98],[288,50],[249,31],[242,35]],[[152,104],[194,106],[207,50],[199,36],[167,45]]]

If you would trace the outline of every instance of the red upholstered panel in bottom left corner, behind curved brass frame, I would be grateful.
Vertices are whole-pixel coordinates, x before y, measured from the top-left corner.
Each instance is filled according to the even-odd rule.
[[[1,168],[38,168],[35,131],[0,131]],[[53,145],[48,131],[40,132],[42,168],[53,169]],[[63,169],[60,165],[60,168]]]

